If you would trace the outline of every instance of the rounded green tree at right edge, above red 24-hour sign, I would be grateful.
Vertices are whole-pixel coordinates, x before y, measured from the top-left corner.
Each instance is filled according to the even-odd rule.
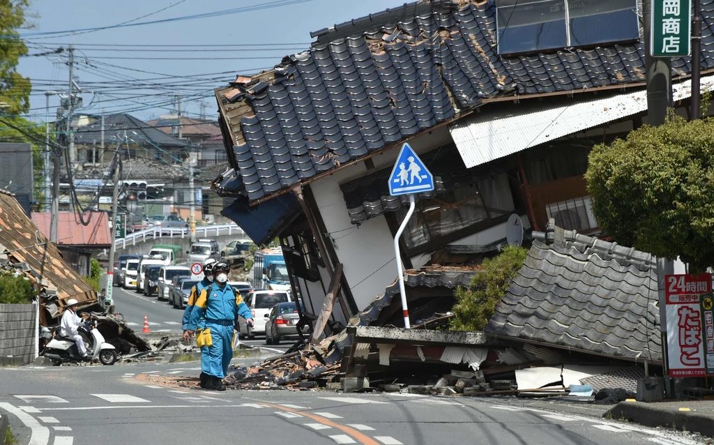
[[[670,116],[590,152],[588,191],[600,228],[692,271],[714,265],[714,120]]]

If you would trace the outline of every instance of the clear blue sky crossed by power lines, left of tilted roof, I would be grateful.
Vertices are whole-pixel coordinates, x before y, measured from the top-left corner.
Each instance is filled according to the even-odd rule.
[[[84,114],[130,112],[149,120],[169,114],[183,96],[184,116],[217,119],[213,89],[235,74],[256,74],[308,49],[311,31],[400,6],[403,0],[34,0],[21,30],[29,54],[76,47],[74,79]],[[270,7],[272,6],[272,7]],[[161,11],[163,9],[163,11]],[[228,10],[242,9],[229,14]],[[246,11],[246,9],[252,9]],[[220,12],[222,11],[222,12]],[[215,13],[208,18],[121,26]],[[99,31],[79,31],[110,26]],[[111,27],[115,26],[115,27]],[[65,34],[45,34],[74,31]],[[67,91],[63,54],[27,56],[18,71],[33,84],[29,118],[45,119],[46,91]],[[146,72],[142,72],[146,71]],[[50,121],[59,106],[50,96]],[[203,107],[201,107],[203,103]]]

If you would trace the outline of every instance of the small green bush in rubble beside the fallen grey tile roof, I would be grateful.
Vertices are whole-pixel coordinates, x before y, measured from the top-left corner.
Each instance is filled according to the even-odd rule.
[[[506,246],[498,256],[483,261],[481,271],[473,276],[468,289],[456,289],[451,329],[482,331],[521,270],[527,254],[528,249],[523,247]]]

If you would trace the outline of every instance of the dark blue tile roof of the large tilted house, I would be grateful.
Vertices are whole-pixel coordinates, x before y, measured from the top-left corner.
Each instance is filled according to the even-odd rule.
[[[702,1],[702,69],[714,69],[714,0]],[[642,86],[641,41],[496,54],[493,1],[419,1],[313,33],[310,49],[216,90],[236,192],[283,193],[396,146],[498,96]],[[690,58],[672,59],[675,76]]]

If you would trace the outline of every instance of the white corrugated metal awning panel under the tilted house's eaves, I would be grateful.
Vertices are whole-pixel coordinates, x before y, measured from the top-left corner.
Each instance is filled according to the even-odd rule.
[[[702,89],[714,88],[714,76],[702,79]],[[691,81],[673,86],[674,100],[691,96]],[[511,107],[481,108],[449,126],[466,168],[518,153],[577,131],[632,116],[647,109],[647,91],[603,99],[548,105],[527,101]]]

